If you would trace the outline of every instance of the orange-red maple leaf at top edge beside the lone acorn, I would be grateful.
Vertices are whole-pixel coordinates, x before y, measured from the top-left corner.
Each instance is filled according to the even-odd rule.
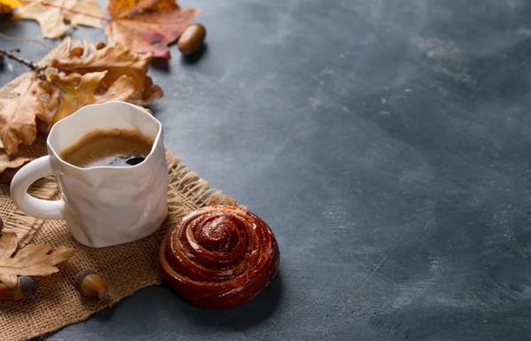
[[[105,24],[109,43],[123,43],[139,53],[169,59],[168,44],[202,11],[181,8],[175,0],[111,0],[111,19]]]

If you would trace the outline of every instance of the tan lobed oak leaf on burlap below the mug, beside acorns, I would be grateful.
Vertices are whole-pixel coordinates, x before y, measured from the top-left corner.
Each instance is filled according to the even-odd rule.
[[[73,249],[59,246],[52,251],[50,245],[29,244],[17,251],[19,240],[14,233],[0,237],[0,282],[9,288],[17,285],[19,275],[51,275],[59,271],[56,264],[73,257]],[[15,253],[16,252],[16,253]]]

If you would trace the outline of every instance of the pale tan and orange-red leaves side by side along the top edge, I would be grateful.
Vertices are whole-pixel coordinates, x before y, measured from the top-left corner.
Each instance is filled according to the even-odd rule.
[[[135,52],[166,59],[171,57],[168,44],[201,13],[180,7],[175,0],[111,0],[110,17],[104,16],[96,0],[0,0],[0,12],[13,9],[13,19],[38,21],[45,38],[60,38],[70,27],[80,25],[104,27],[110,44],[121,43]]]

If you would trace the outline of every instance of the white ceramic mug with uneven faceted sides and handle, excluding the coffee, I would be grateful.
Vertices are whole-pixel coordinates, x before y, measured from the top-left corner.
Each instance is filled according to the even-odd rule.
[[[138,129],[155,140],[150,154],[130,167],[80,168],[59,157],[61,151],[94,129]],[[104,247],[124,244],[155,232],[167,215],[167,165],[162,125],[150,113],[125,102],[87,105],[50,130],[49,155],[35,159],[15,174],[15,205],[43,219],[65,219],[81,244]],[[55,175],[61,198],[34,198],[29,186]]]

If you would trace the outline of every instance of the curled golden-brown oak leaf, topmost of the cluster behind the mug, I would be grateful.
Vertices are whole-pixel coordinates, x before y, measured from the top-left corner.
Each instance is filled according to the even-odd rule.
[[[77,74],[107,71],[99,90],[111,89],[115,81],[126,75],[135,84],[135,94],[127,101],[135,105],[147,105],[164,94],[158,85],[153,84],[150,76],[146,75],[150,60],[150,53],[142,55],[127,49],[120,43],[115,43],[101,50],[96,50],[87,57],[73,56],[54,59],[51,66],[57,67],[63,72],[75,72]]]

